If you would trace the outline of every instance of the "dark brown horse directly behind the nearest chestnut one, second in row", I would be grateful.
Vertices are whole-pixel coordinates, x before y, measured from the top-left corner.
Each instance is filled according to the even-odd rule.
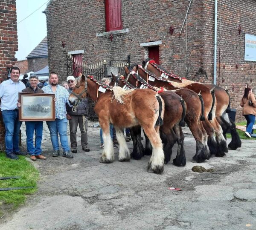
[[[122,76],[123,77],[123,76]],[[122,78],[116,80],[112,75],[112,84],[117,83],[118,86],[123,89],[133,89],[134,86],[129,84]],[[152,87],[151,87],[152,88]],[[164,162],[167,164],[170,161],[172,155],[172,147],[177,142],[177,155],[173,160],[173,164],[176,166],[186,165],[186,155],[183,147],[184,135],[181,126],[184,126],[184,117],[186,114],[186,103],[175,93],[171,91],[159,92],[163,100],[165,101],[165,112],[163,117],[163,125],[160,127],[160,136],[164,143]],[[141,144],[141,138],[136,138],[140,134],[140,129],[137,132],[132,132],[132,138],[136,140],[134,148],[137,144]],[[145,136],[146,137],[146,136]],[[141,144],[142,145],[142,144]],[[150,143],[146,137],[145,155],[151,155]]]

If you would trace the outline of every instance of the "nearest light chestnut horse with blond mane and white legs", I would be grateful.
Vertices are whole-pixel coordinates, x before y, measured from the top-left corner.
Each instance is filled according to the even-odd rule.
[[[160,95],[150,89],[125,91],[120,87],[107,86],[92,76],[88,75],[86,78],[81,75],[70,94],[70,104],[77,106],[77,103],[84,100],[87,95],[96,103],[94,111],[99,117],[99,124],[103,131],[104,150],[100,162],[111,163],[114,160],[113,142],[109,132],[110,123],[116,129],[119,161],[130,160],[123,128],[140,124],[153,147],[152,156],[148,162],[148,172],[163,173],[164,154],[157,125],[163,122],[164,113],[164,101]]]

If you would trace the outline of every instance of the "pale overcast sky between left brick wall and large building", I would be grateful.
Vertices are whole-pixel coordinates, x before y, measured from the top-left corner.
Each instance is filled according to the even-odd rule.
[[[48,2],[49,0],[16,0],[18,51],[15,58],[18,60],[24,60],[47,36],[46,17],[42,11]],[[23,20],[24,18],[26,19]]]

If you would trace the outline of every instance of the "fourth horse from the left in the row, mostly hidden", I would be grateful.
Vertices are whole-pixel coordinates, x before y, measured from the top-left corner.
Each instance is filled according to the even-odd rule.
[[[147,66],[150,67],[153,65],[149,63]],[[134,71],[137,72],[138,75],[140,75],[146,81],[148,80],[148,83],[150,83],[152,86],[165,87],[166,89],[170,89],[170,90],[182,88],[180,86],[177,87],[176,86],[177,84],[172,83],[167,79],[165,80],[164,78],[163,79],[159,78],[159,76],[161,75],[161,72],[159,69],[154,68],[154,72],[157,75],[154,75],[154,73],[151,73],[149,71],[145,71],[145,69],[141,65],[134,66]],[[227,152],[227,145],[226,145],[226,140],[222,133],[222,128],[218,124],[218,121],[215,118],[216,104],[213,104],[213,99],[215,99],[214,95],[212,95],[208,87],[200,83],[191,82],[191,84],[185,86],[184,88],[191,89],[196,93],[201,93],[202,98],[204,100],[204,118],[205,118],[205,120],[202,122],[203,122],[204,129],[208,134],[207,144],[209,146],[209,149],[212,155],[219,156],[219,157],[224,156],[225,152]],[[191,103],[193,105],[192,102],[189,102],[190,101],[189,97],[186,98],[186,100],[188,100],[186,101],[187,104]],[[216,134],[216,137],[215,137],[215,134]]]

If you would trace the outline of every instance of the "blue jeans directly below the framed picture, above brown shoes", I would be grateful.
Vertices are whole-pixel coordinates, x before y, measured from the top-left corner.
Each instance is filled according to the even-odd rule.
[[[41,143],[43,136],[43,121],[25,121],[26,124],[26,143],[29,155],[40,155],[42,153]],[[33,135],[35,131],[35,147]]]

